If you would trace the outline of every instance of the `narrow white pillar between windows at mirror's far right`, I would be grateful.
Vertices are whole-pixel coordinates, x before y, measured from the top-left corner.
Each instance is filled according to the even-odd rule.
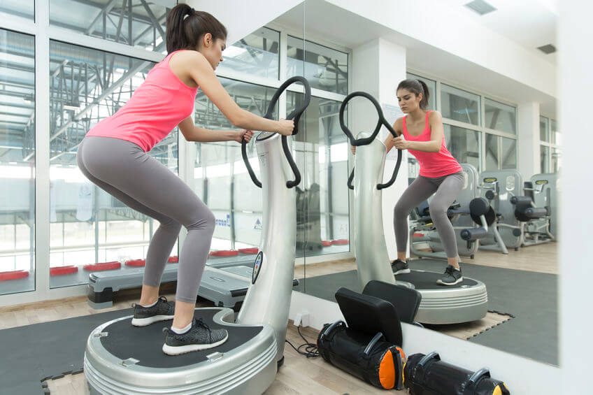
[[[540,173],[539,103],[519,103],[517,113],[517,170],[523,175],[523,180],[529,180],[531,175]]]

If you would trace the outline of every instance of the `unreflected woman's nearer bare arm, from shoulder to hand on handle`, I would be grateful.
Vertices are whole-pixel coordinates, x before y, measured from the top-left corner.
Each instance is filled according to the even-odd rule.
[[[201,53],[183,51],[177,56],[179,62],[184,62],[181,66],[189,71],[190,77],[234,126],[241,129],[274,131],[285,136],[292,134],[292,130],[294,129],[294,122],[292,120],[267,120],[264,117],[259,117],[239,107],[224,89],[216,77],[212,66],[210,66],[210,63],[208,63]]]

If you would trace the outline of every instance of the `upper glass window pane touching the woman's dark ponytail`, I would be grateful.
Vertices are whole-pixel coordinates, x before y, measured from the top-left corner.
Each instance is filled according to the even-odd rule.
[[[176,3],[175,0],[50,0],[50,24],[86,36],[166,52],[166,15]]]

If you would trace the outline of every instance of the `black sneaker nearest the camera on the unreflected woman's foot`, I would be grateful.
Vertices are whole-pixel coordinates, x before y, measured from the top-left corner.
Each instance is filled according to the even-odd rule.
[[[201,318],[194,319],[190,330],[180,335],[168,328],[163,328],[163,333],[166,333],[163,352],[168,355],[207,350],[221,345],[229,338],[226,329],[210,329]]]

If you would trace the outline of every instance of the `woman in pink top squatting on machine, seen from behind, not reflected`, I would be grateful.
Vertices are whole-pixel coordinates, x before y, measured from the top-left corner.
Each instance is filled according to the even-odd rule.
[[[166,20],[169,55],[157,64],[129,101],[93,127],[78,148],[78,166],[92,182],[127,206],[160,222],[150,241],[135,326],[173,319],[163,351],[183,354],[215,347],[227,340],[224,329],[194,319],[199,282],[214,233],[213,213],[180,178],[148,152],[179,127],[187,141],[249,141],[250,129],[289,136],[294,122],[266,120],[241,109],[217,80],[227,29],[212,15],[178,4]],[[194,126],[197,90],[241,131]],[[182,227],[187,238],[179,257],[176,303],[159,298],[161,276]]]

